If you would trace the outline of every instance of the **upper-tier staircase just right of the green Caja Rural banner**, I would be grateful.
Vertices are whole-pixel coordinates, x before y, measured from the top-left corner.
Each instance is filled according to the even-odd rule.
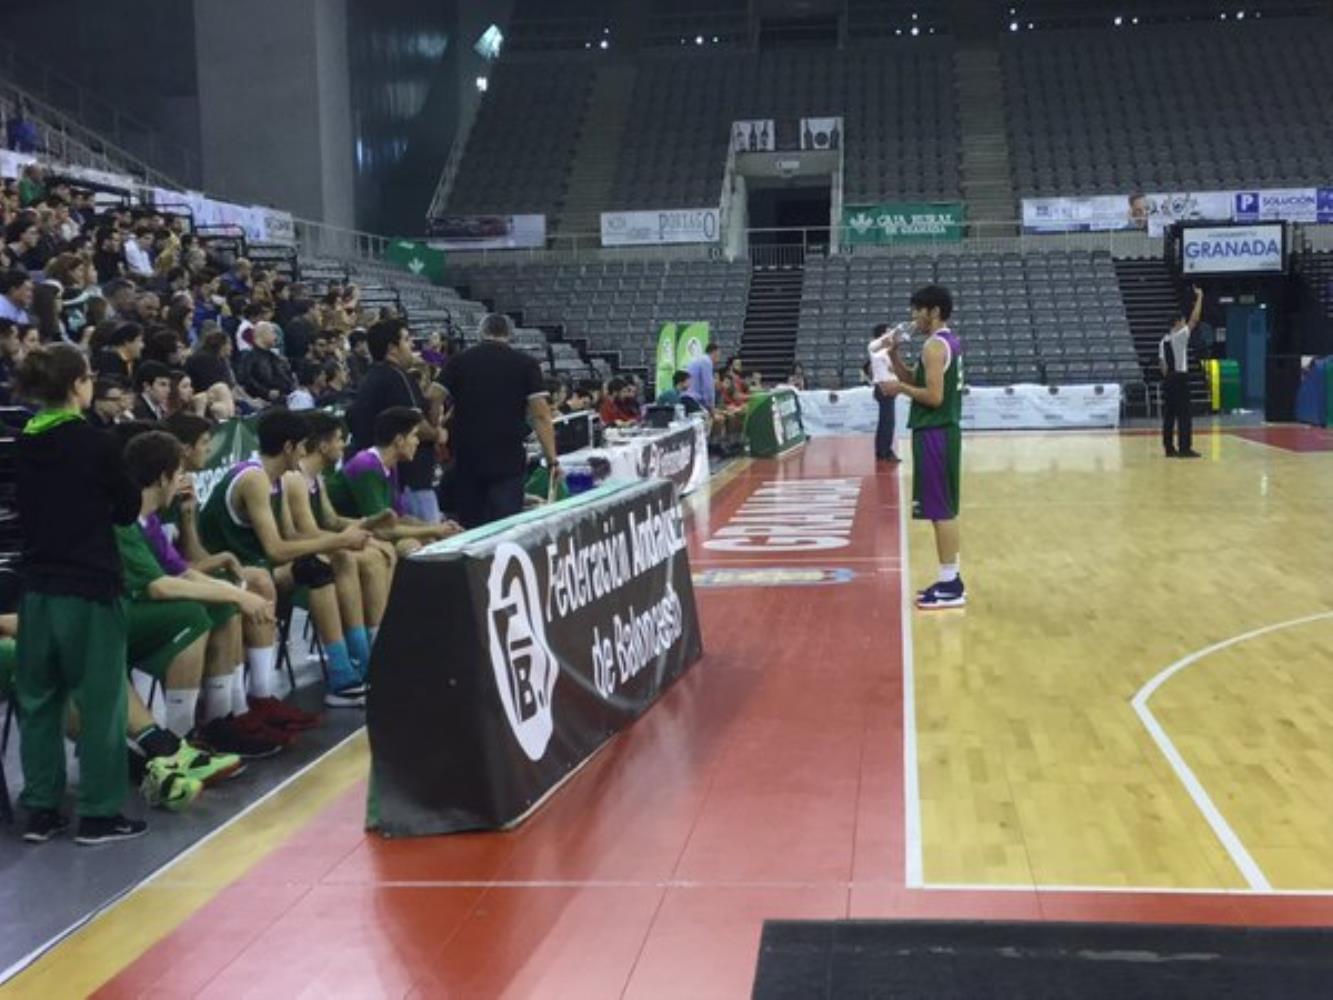
[[[992,41],[960,45],[953,76],[962,128],[962,197],[972,220],[970,235],[1013,236],[1018,201],[1013,189],[998,48]]]

